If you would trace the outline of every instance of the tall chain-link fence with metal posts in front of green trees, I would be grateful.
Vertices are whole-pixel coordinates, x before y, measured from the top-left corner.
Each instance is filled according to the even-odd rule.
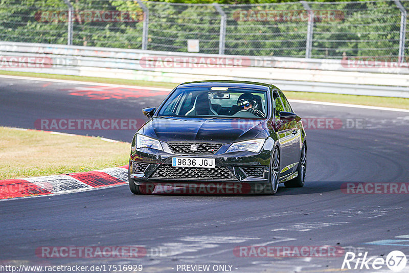
[[[0,40],[212,54],[403,56],[409,0],[175,4],[0,0]],[[197,41],[198,40],[198,44]],[[198,45],[198,47],[197,47]]]

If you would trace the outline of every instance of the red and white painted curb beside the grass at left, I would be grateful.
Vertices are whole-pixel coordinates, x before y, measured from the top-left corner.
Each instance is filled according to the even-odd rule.
[[[128,183],[128,166],[90,172],[0,180],[0,199],[63,194]]]

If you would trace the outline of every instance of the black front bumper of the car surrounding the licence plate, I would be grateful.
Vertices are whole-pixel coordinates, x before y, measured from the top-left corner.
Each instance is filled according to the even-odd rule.
[[[224,146],[224,145],[223,145]],[[228,148],[229,145],[226,145]],[[229,189],[242,193],[262,190],[268,184],[270,143],[266,141],[260,153],[249,151],[213,155],[173,154],[165,151],[142,148],[131,153],[130,178],[138,186],[164,186],[198,189],[215,188],[219,193]],[[215,168],[172,167],[172,157],[215,158]],[[212,193],[207,191],[208,193]],[[194,193],[194,192],[193,192]],[[216,193],[216,192],[215,192]]]

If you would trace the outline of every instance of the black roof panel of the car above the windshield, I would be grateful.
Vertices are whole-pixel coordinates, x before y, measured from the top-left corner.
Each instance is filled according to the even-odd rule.
[[[223,86],[223,87],[240,87],[240,88],[250,88],[250,89],[259,89],[259,90],[269,90],[269,87],[275,87],[274,85],[253,82],[253,81],[192,81],[179,84],[177,87],[199,87],[199,86]]]

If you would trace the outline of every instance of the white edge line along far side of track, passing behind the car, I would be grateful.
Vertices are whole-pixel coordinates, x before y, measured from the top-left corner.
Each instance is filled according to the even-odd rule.
[[[83,84],[83,85],[105,85],[105,86],[113,86],[113,87],[140,88],[140,89],[157,90],[157,91],[169,91],[169,92],[171,91],[171,88],[157,88],[157,87],[146,87],[146,86],[135,86],[135,85],[110,84],[110,83],[102,83],[102,82],[71,81],[71,80],[22,77],[22,76],[9,76],[9,75],[0,75],[0,78],[19,79],[19,80],[32,80],[32,81],[37,80],[37,81],[49,81],[49,82],[74,83],[74,84]],[[175,86],[176,86],[176,84],[175,84]],[[351,107],[351,108],[361,108],[361,109],[409,112],[409,109],[368,106],[368,105],[360,105],[360,104],[346,104],[346,103],[306,101],[306,100],[289,100],[289,101],[290,102],[296,102],[296,103],[319,104],[319,105],[329,105],[329,106],[339,106],[339,107]]]

